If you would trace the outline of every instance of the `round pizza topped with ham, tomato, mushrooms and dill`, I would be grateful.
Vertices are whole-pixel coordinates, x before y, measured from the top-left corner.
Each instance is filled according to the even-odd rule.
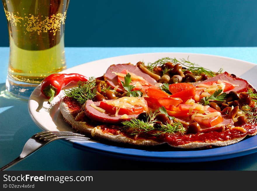
[[[64,120],[100,141],[193,149],[257,134],[256,89],[234,74],[186,59],[113,64],[64,95]]]

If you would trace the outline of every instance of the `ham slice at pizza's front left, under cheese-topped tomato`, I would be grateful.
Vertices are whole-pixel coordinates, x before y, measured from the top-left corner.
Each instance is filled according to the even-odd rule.
[[[92,101],[87,100],[86,106],[85,106],[85,114],[90,119],[103,122],[103,123],[120,123],[122,121],[130,120],[131,118],[136,118],[138,114],[136,115],[109,115],[107,113],[102,113],[98,110],[96,110],[94,107],[91,106],[91,104],[94,104],[95,106],[99,107],[100,101]],[[125,116],[125,118],[124,118]]]

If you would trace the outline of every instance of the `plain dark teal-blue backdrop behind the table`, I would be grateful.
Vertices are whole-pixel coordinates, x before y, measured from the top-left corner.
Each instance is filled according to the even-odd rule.
[[[257,46],[256,0],[70,0],[66,47]],[[0,46],[9,46],[3,6]]]

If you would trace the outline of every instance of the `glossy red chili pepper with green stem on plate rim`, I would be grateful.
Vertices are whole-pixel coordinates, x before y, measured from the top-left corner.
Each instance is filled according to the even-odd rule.
[[[53,98],[60,93],[63,87],[70,83],[77,83],[79,81],[86,82],[88,78],[78,73],[54,73],[47,76],[41,83],[41,93],[44,94],[48,100],[48,104]]]

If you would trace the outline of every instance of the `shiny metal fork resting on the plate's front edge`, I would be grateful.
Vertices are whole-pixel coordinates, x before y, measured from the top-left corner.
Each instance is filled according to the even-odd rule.
[[[14,164],[25,159],[27,156],[39,150],[46,144],[57,139],[89,140],[90,138],[86,137],[85,135],[67,131],[43,131],[36,133],[32,137],[30,137],[30,139],[25,143],[23,150],[20,153],[20,156],[18,156],[12,162],[6,164],[0,169],[0,171],[12,167]]]

